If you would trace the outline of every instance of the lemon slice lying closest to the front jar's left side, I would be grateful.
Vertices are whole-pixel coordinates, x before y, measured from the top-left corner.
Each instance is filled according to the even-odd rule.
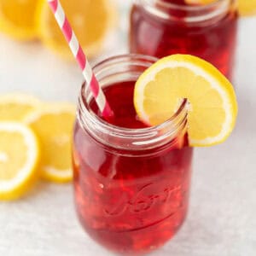
[[[48,104],[26,118],[44,149],[41,176],[52,182],[68,182],[73,177],[71,138],[75,108],[70,104]]]

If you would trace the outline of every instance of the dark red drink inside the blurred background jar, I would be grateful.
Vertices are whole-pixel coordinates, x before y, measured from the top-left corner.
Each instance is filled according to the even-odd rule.
[[[184,0],[165,0],[166,3],[188,5]],[[160,8],[160,7],[158,7]],[[228,14],[192,24],[184,19],[189,12],[165,9],[175,16],[165,20],[152,15],[140,5],[131,10],[131,53],[163,57],[172,54],[189,54],[211,62],[231,79],[235,61],[237,13]]]

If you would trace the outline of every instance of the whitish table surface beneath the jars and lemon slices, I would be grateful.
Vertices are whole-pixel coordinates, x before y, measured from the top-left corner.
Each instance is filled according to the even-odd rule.
[[[125,52],[125,37],[120,36],[125,35],[125,24],[106,55],[114,49]],[[236,130],[220,146],[195,150],[187,221],[172,241],[151,255],[256,255],[256,18],[240,20],[239,28]],[[0,93],[20,91],[48,101],[76,101],[82,81],[79,68],[41,44],[18,44],[0,35],[0,60]],[[80,227],[71,184],[39,183],[23,200],[0,202],[0,255],[112,254]]]

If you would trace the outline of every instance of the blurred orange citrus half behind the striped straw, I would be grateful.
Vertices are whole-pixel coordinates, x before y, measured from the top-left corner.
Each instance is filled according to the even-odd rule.
[[[71,51],[47,1],[40,1],[37,20],[40,38],[50,49],[71,57]],[[115,17],[111,0],[62,0],[61,4],[86,55],[91,57],[99,54]]]

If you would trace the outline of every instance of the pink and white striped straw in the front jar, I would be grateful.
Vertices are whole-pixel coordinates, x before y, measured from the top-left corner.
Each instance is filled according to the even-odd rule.
[[[49,3],[49,7],[55,15],[55,20],[58,25],[61,27],[61,31],[64,34],[67,43],[69,44],[69,48],[72,50],[74,57],[79,62],[79,66],[81,67],[84,75],[84,79],[87,84],[90,84],[90,90],[93,96],[96,99],[96,103],[98,108],[100,109],[103,117],[108,118],[113,116],[113,112],[108,105],[106,100],[106,96],[103,94],[102,88],[100,84],[96,80],[94,73],[90,67],[90,64],[84,55],[84,51],[79,44],[79,40],[73,32],[72,27],[70,26],[69,21],[67,20],[67,16],[61,6],[60,0],[47,0]]]

